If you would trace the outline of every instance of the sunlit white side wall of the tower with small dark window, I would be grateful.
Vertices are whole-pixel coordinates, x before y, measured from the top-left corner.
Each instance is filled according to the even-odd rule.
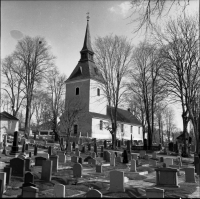
[[[97,95],[97,89],[100,89],[100,96]],[[107,99],[103,94],[99,82],[90,80],[90,104],[89,111],[106,115]]]

